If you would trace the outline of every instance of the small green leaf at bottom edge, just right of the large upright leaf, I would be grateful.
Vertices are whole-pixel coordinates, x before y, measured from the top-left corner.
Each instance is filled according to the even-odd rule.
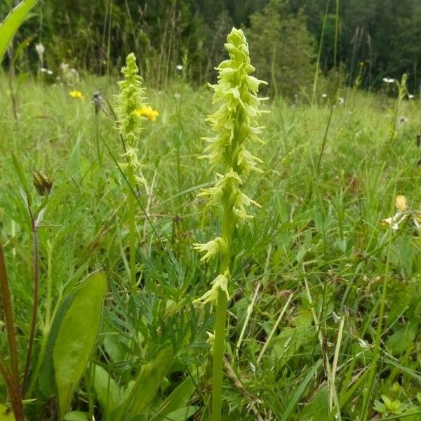
[[[119,387],[107,370],[101,366],[95,366],[93,387],[100,402],[103,420],[110,420],[109,414],[120,403],[121,394]]]

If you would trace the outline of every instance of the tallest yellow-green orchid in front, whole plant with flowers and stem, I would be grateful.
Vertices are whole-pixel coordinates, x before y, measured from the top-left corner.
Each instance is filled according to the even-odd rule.
[[[220,103],[219,109],[208,116],[215,137],[205,138],[209,143],[205,156],[212,167],[221,168],[214,187],[203,189],[201,196],[208,196],[211,203],[222,205],[222,232],[220,236],[204,244],[194,244],[196,250],[205,253],[201,260],[219,257],[219,274],[213,280],[212,288],[196,302],[209,302],[216,307],[215,337],[213,340],[213,420],[220,420],[222,413],[222,364],[225,347],[225,325],[228,285],[231,279],[230,260],[234,229],[240,220],[253,216],[246,213],[251,203],[260,206],[241,191],[243,179],[256,171],[261,173],[258,163],[262,161],[248,152],[247,142],[260,142],[260,129],[256,122],[259,116],[260,101],[257,93],[260,81],[254,76],[255,68],[250,65],[248,44],[241,29],[233,28],[227,36],[225,49],[229,59],[217,67],[218,83],[213,88],[213,102]]]

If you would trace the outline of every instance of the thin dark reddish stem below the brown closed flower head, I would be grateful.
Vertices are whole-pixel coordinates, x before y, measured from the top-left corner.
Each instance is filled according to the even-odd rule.
[[[29,209],[29,207],[28,207]],[[32,307],[32,320],[31,320],[31,331],[29,333],[29,343],[28,343],[28,353],[27,359],[25,362],[25,372],[22,380],[22,396],[25,395],[25,389],[27,387],[28,375],[29,375],[29,366],[31,364],[32,348],[34,346],[35,338],[35,329],[36,329],[36,313],[38,312],[38,288],[39,288],[39,242],[38,242],[38,227],[36,226],[36,221],[32,211],[29,209],[29,215],[31,216],[31,225],[32,225],[32,237],[34,241],[34,253],[32,260],[32,280],[34,288],[34,305]]]

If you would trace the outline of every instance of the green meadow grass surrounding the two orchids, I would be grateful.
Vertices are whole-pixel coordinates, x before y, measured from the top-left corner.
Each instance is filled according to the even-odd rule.
[[[139,285],[131,294],[126,182],[107,149],[99,166],[89,100],[99,89],[114,105],[115,81],[87,77],[78,86],[48,86],[28,80],[19,89],[17,121],[6,82],[0,79],[0,220],[21,368],[32,309],[32,236],[12,152],[28,179],[44,169],[54,180],[39,229],[41,300],[26,396],[36,400],[25,405],[29,420],[55,419],[55,389],[34,374],[34,366],[58,305],[95,269],[107,274],[110,292],[98,347],[72,409],[107,420],[111,408],[103,402],[112,399],[101,400],[104,387],[93,375],[101,366],[109,373],[105,385],[115,381],[121,394],[130,394],[138,380],[134,396],[143,402],[133,403],[131,415],[141,415],[122,419],[207,420],[206,331],[213,315],[192,301],[208,289],[217,265],[200,263],[192,243],[220,232],[219,209],[196,196],[215,178],[197,159],[201,137],[209,133],[210,92],[179,81],[165,92],[147,91],[160,115],[155,123],[146,121],[142,133],[142,173],[151,196],[139,197],[149,221],[140,206],[136,210]],[[73,88],[86,99],[70,98]],[[271,114],[262,118],[266,145],[255,151],[265,173],[244,186],[262,208],[251,210],[255,218],[238,227],[233,243],[226,419],[333,420],[339,408],[342,420],[357,420],[375,417],[377,410],[384,418],[420,411],[420,237],[410,224],[397,233],[380,224],[393,215],[396,194],[404,194],[411,208],[421,206],[419,103],[403,102],[399,116],[408,122],[397,123],[390,145],[394,100],[351,91],[333,109],[319,173],[328,105],[274,100],[268,107]],[[99,133],[122,162],[118,132],[104,114]],[[6,354],[1,323],[0,352]],[[6,402],[2,382],[0,402]],[[114,386],[107,389],[112,393]],[[404,405],[392,413],[381,395]]]

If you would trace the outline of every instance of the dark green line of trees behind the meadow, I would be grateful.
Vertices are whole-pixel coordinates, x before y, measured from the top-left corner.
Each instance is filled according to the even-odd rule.
[[[13,4],[1,2],[1,18]],[[321,74],[335,67],[364,88],[403,73],[412,91],[420,85],[419,0],[41,0],[14,41],[15,50],[28,46],[15,64],[35,71],[42,43],[48,68],[105,74],[133,51],[156,86],[175,75],[202,83],[215,78],[233,25],[279,93],[308,91],[317,63]]]

